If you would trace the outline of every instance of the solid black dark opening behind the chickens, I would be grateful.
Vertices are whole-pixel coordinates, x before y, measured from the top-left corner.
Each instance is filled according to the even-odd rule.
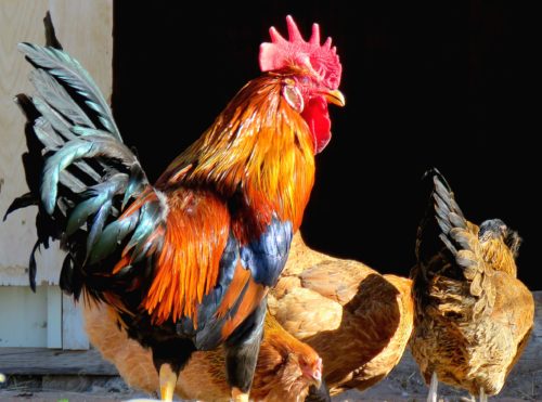
[[[271,25],[285,34],[292,14],[307,38],[318,22],[337,46],[347,106],[332,106],[307,243],[406,275],[428,196],[420,179],[436,166],[469,220],[519,231],[519,277],[542,289],[540,22],[521,3],[117,1],[114,113],[156,179],[259,74]]]

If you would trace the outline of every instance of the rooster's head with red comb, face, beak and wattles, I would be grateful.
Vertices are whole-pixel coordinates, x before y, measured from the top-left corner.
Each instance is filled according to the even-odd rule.
[[[307,121],[320,153],[331,140],[331,120],[327,103],[345,105],[338,90],[341,65],[332,48],[332,39],[320,44],[320,27],[312,25],[312,36],[305,41],[292,16],[286,17],[288,40],[271,27],[271,43],[260,46],[260,69],[284,74],[282,95]]]

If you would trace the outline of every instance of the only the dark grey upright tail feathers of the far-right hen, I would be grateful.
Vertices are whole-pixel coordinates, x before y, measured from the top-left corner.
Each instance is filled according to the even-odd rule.
[[[418,275],[424,278],[436,273],[462,278],[455,257],[460,245],[455,242],[453,229],[465,229],[467,222],[454,194],[444,177],[435,168],[424,174],[430,185],[430,197],[416,236],[416,259]]]

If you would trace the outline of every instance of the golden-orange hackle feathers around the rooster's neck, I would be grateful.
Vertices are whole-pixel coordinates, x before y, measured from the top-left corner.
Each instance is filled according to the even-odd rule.
[[[173,160],[158,187],[190,184],[228,198],[240,194],[245,220],[266,225],[274,215],[297,230],[314,181],[314,148],[306,121],[281,95],[285,75],[269,73],[248,82]]]

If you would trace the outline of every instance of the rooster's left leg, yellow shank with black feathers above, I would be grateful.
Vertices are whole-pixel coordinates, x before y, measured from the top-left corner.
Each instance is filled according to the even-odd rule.
[[[153,363],[159,375],[160,399],[172,401],[179,373],[196,350],[190,339],[172,338],[152,347]]]

